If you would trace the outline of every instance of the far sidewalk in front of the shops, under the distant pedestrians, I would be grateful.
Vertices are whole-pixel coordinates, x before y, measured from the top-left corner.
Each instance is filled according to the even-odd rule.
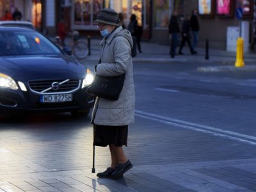
[[[87,42],[87,39],[81,39]],[[72,45],[70,38],[66,40],[67,45]],[[100,39],[91,39],[91,55],[87,56],[85,61],[98,61],[99,60],[99,43]],[[171,58],[169,55],[169,45],[159,45],[151,42],[141,42],[142,54],[137,54],[133,58],[133,61],[143,62],[191,62],[191,63],[212,63],[211,67],[200,67],[198,71],[202,72],[216,72],[216,71],[229,71],[229,70],[256,70],[256,53],[245,53],[244,63],[245,67],[234,67],[236,62],[236,52],[228,52],[225,50],[209,49],[209,60],[205,60],[205,48],[198,47],[196,51],[198,54],[191,55],[188,46],[184,47],[184,55],[177,55],[175,58]],[[177,48],[178,50],[179,48]],[[218,63],[219,65],[214,65]],[[220,66],[220,64],[223,64]]]

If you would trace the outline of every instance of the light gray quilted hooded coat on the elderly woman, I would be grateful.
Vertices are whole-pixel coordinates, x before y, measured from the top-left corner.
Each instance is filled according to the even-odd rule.
[[[125,81],[118,100],[97,97],[92,113],[94,124],[121,126],[134,122],[135,93],[131,47],[131,33],[122,29],[122,26],[100,42],[101,63],[97,65],[96,74],[120,76],[125,73]]]

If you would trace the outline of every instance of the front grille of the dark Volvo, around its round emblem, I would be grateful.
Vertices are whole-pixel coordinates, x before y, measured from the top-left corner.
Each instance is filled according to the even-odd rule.
[[[58,88],[54,90],[52,83],[58,83]],[[80,86],[79,79],[55,79],[44,81],[29,81],[29,87],[33,92],[37,93],[63,93],[73,92]]]

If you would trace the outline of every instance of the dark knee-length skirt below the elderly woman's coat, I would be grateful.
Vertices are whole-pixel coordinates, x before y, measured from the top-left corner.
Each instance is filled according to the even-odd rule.
[[[93,126],[93,145],[106,147],[110,144],[116,147],[127,146],[128,125],[124,126]]]

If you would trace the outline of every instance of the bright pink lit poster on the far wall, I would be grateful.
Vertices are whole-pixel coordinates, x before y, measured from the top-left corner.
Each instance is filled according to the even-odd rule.
[[[232,17],[234,15],[234,0],[217,0],[217,14],[223,17]]]

